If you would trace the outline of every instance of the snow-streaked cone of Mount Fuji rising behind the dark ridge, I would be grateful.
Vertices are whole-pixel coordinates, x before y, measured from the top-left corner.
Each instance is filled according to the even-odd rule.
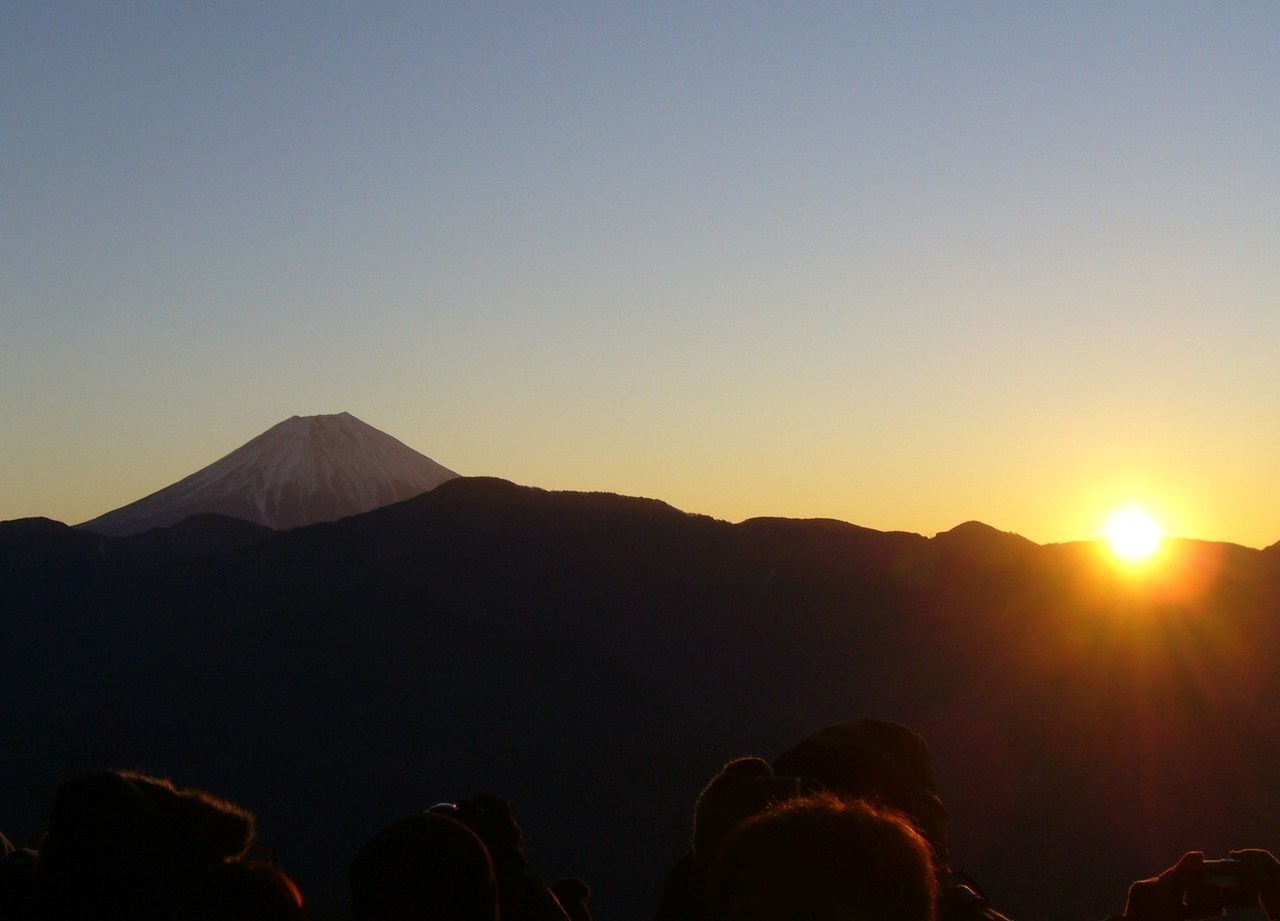
[[[457,476],[351,413],[293,416],[191,476],[78,527],[124,536],[215,513],[283,531],[411,499]]]

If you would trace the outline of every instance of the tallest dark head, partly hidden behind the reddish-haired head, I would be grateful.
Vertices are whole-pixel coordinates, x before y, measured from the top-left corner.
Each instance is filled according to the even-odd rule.
[[[947,811],[929,747],[905,725],[858,719],[819,729],[780,755],[773,770],[800,778],[805,789],[872,799],[905,814],[932,846],[938,866],[948,865]]]

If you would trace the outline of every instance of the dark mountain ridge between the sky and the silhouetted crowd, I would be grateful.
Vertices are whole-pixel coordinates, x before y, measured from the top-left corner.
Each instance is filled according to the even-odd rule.
[[[1183,851],[1280,849],[1280,555],[1146,574],[979,523],[730,524],[454,478],[273,532],[0,523],[0,828],[99,765],[243,802],[323,898],[393,817],[512,799],[535,870],[639,921],[730,757],[896,719],[1015,918],[1119,911]]]

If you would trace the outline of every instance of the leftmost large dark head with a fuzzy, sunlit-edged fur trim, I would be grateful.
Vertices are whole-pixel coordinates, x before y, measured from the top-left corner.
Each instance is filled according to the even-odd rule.
[[[54,796],[36,858],[49,918],[166,917],[207,866],[239,857],[253,816],[204,791],[142,774],[104,771]]]

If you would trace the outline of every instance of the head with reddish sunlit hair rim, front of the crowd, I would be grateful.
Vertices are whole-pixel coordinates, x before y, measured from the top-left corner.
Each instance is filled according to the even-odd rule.
[[[900,812],[813,796],[740,823],[712,867],[713,921],[934,921],[928,843]]]

